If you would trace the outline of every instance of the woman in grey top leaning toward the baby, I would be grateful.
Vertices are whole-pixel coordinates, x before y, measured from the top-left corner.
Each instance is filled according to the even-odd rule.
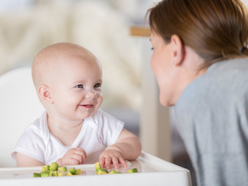
[[[240,0],[163,0],[148,10],[151,67],[198,186],[248,185],[248,13]]]

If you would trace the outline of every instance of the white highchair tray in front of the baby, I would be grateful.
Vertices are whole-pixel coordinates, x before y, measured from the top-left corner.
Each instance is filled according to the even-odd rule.
[[[3,186],[139,186],[169,185],[191,186],[190,172],[170,162],[142,152],[135,161],[127,161],[127,168],[120,166],[122,174],[96,175],[94,164],[67,166],[81,169],[82,173],[64,177],[33,177],[42,167],[0,168],[0,185]],[[138,173],[127,173],[137,168]],[[113,168],[111,168],[113,169]],[[111,169],[109,171],[111,171]]]

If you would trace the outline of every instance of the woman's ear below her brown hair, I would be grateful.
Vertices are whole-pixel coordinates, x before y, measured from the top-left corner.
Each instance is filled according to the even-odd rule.
[[[177,35],[171,36],[171,44],[173,50],[173,64],[178,66],[182,63],[184,58],[184,45],[182,40]]]

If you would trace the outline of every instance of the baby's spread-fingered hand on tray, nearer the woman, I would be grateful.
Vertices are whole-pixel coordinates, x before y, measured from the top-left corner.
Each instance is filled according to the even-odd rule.
[[[127,164],[123,159],[121,153],[118,150],[114,149],[106,149],[105,151],[103,151],[99,157],[99,163],[106,169],[110,168],[111,163],[114,164],[115,169],[119,168],[119,163],[121,163],[125,168],[127,167]]]

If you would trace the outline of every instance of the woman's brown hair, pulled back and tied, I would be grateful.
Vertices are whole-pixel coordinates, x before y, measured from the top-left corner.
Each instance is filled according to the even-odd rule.
[[[173,34],[206,62],[247,55],[248,12],[240,0],[163,0],[147,11],[151,30]]]

